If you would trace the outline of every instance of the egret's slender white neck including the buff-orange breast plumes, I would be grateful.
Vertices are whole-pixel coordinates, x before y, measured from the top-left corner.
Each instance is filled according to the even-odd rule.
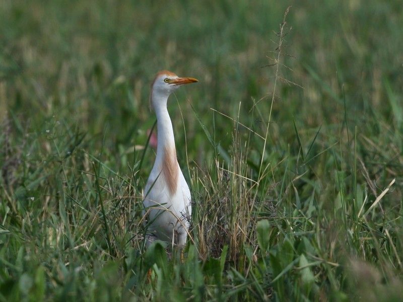
[[[152,103],[157,115],[157,158],[155,166],[157,169],[161,169],[169,191],[173,195],[177,189],[179,167],[167,100],[167,96],[152,95]]]

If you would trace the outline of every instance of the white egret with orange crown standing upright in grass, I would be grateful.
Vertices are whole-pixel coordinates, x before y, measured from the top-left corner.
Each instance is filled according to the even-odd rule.
[[[169,95],[184,84],[198,82],[179,78],[163,70],[157,73],[150,102],[157,115],[157,157],[144,188],[144,211],[148,225],[147,246],[156,239],[183,248],[190,226],[190,190],[176,159],[172,122],[168,114]]]

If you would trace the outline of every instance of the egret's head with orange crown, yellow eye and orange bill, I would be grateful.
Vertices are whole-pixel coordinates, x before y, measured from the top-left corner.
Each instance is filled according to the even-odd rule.
[[[172,92],[182,85],[194,82],[198,81],[194,78],[180,78],[171,71],[162,70],[155,76],[151,87],[151,99],[153,102],[155,102],[155,99],[166,100]],[[153,105],[155,106],[155,104]]]

